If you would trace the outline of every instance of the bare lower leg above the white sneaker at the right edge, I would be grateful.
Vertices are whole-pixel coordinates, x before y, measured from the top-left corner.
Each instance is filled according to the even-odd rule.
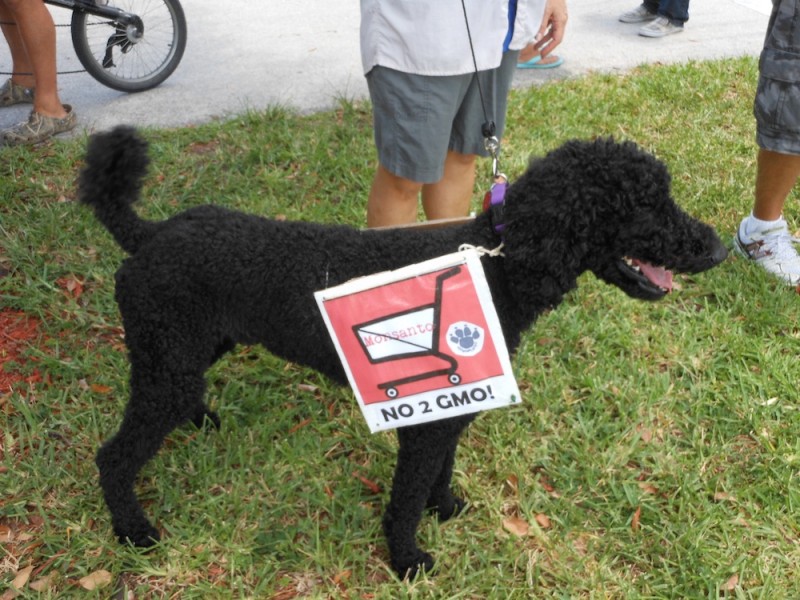
[[[753,216],[762,221],[779,219],[798,176],[800,156],[779,154],[763,148],[759,150]]]

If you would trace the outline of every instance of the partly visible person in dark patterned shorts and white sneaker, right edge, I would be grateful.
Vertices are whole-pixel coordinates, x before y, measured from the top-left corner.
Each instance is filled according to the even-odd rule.
[[[773,0],[754,103],[758,170],[755,202],[734,249],[789,285],[800,285],[800,240],[783,206],[800,177],[800,0]]]

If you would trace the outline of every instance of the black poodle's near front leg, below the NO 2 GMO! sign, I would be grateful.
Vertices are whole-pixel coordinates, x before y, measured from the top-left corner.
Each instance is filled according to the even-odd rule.
[[[434,499],[440,510],[448,507],[439,502],[454,505],[449,481],[455,446],[465,425],[450,419],[398,431],[400,449],[383,530],[392,568],[400,577],[413,578],[419,571],[433,568],[433,557],[417,547],[417,527],[429,500]],[[446,494],[443,486],[448,488]],[[453,509],[449,512],[451,516]]]

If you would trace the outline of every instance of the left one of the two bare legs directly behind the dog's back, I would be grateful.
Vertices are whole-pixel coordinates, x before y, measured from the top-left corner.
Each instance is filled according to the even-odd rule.
[[[421,183],[398,177],[378,165],[367,199],[367,227],[415,223],[421,189]]]

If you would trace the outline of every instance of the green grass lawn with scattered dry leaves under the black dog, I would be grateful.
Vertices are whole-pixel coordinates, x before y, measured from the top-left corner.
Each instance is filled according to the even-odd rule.
[[[755,81],[741,59],[515,91],[503,169],[513,178],[572,137],[633,139],[727,239],[752,202]],[[146,135],[150,218],[214,202],[364,222],[367,105]],[[387,567],[394,436],[368,433],[349,390],[257,348],[208,375],[222,431],[176,431],[142,473],[163,542],[147,554],[117,545],[93,454],[126,399],[113,301],[123,254],[74,202],[84,146],[0,150],[0,309],[41,320],[6,368],[46,374],[0,396],[3,599],[26,567],[20,597],[109,597],[114,585],[137,599],[797,597],[799,299],[735,257],[658,304],[586,275],[540,319],[514,359],[523,404],[463,439],[454,483],[471,510],[421,525],[435,577],[399,582]],[[796,198],[786,216],[800,224]],[[529,534],[507,532],[509,517]],[[112,584],[83,589],[101,571]]]

